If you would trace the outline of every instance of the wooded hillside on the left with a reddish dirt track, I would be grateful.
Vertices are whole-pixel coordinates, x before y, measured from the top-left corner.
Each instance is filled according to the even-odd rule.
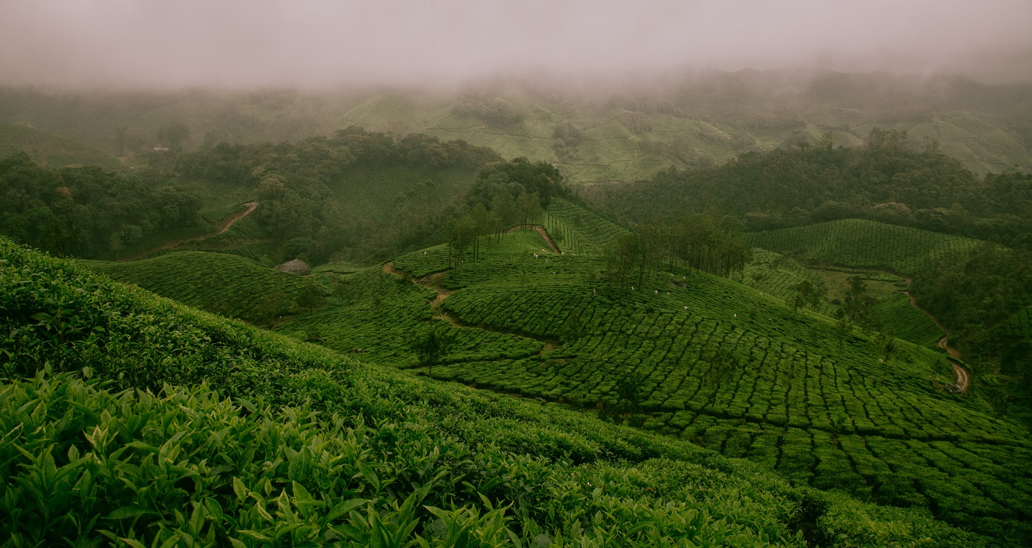
[[[351,127],[298,143],[160,151],[131,173],[0,161],[0,229],[80,258],[225,251],[266,265],[303,256],[368,260],[440,240],[480,168],[499,160],[462,141],[395,141]],[[557,176],[557,175],[556,175]],[[252,215],[253,214],[253,215]]]

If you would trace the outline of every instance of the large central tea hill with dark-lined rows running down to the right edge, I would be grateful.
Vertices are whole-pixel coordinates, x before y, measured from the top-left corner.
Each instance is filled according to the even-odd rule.
[[[434,251],[394,265],[414,278],[440,271]],[[884,299],[880,313],[905,311],[897,323],[910,328],[901,334],[917,344],[897,341],[886,353],[875,333],[853,329],[839,340],[827,317],[794,314],[729,280],[676,269],[618,294],[603,271],[598,256],[515,243],[449,270],[439,281],[448,318],[555,347],[446,360],[432,376],[595,409],[799,483],[927,507],[975,530],[1028,527],[1027,431],[985,401],[940,388],[954,380],[950,363],[920,346],[938,333],[920,311],[902,308],[896,297],[904,295]]]

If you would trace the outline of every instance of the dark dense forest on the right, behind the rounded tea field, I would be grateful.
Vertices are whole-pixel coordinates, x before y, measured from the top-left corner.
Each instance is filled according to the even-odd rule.
[[[717,205],[747,230],[864,218],[1007,245],[1032,233],[1032,176],[979,180],[926,140],[874,128],[864,147],[834,146],[831,134],[792,150],[746,152],[712,167],[670,169],[649,181],[600,186],[589,196],[627,221]]]

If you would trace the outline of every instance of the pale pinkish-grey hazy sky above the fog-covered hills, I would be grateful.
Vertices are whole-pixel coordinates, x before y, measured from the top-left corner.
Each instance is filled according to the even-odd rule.
[[[780,66],[1032,80],[1032,0],[0,0],[0,84],[449,85]]]

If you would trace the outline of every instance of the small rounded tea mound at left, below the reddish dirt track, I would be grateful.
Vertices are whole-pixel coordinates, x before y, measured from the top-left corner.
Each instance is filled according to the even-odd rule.
[[[298,297],[318,291],[313,281],[222,253],[174,252],[125,263],[82,261],[91,270],[207,312],[267,321],[299,312]]]

